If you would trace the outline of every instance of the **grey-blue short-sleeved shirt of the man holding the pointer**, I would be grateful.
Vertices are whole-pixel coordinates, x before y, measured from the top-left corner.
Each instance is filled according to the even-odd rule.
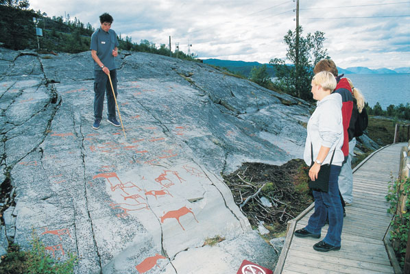
[[[118,47],[119,42],[117,40],[117,34],[112,29],[108,32],[104,32],[101,27],[99,27],[91,36],[90,49],[97,51],[97,56],[99,60],[106,66],[110,71],[116,69],[114,63],[114,56],[112,56],[112,49]],[[101,68],[94,61],[94,69],[100,70]]]

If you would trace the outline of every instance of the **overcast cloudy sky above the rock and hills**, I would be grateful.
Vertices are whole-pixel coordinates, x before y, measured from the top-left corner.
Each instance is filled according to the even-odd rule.
[[[267,63],[285,59],[283,42],[296,27],[293,0],[29,0],[47,16],[77,17],[99,27],[99,15],[114,18],[112,29],[133,42],[169,45],[198,58]],[[343,6],[343,7],[342,7]],[[303,35],[324,32],[324,47],[337,66],[395,69],[410,66],[410,1],[300,0]]]

